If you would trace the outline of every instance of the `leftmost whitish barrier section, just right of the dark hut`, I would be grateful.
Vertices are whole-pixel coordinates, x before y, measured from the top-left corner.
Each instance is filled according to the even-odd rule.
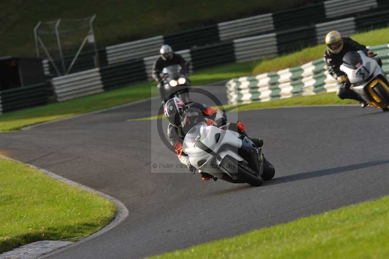
[[[104,91],[99,69],[54,77],[52,85],[59,102]]]

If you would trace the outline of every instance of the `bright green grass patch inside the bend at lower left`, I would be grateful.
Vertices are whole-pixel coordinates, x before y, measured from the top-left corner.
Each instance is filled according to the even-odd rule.
[[[38,240],[91,235],[116,214],[113,203],[0,157],[0,253]]]

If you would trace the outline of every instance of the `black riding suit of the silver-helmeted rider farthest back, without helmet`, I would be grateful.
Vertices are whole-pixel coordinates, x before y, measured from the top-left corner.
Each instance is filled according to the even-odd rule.
[[[164,60],[161,56],[159,56],[159,58],[154,62],[152,76],[158,82],[157,87],[159,89],[162,101],[164,101],[167,96],[165,96],[165,89],[162,87],[163,79],[161,78],[160,74],[162,72],[162,69],[164,69],[165,67],[176,64],[180,65],[186,73],[188,72],[188,65],[185,58],[183,58],[177,53],[173,53],[173,57],[170,60]]]

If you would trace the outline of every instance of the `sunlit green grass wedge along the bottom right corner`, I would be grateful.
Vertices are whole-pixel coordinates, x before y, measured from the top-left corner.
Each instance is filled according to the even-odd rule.
[[[388,258],[389,197],[152,258]]]

